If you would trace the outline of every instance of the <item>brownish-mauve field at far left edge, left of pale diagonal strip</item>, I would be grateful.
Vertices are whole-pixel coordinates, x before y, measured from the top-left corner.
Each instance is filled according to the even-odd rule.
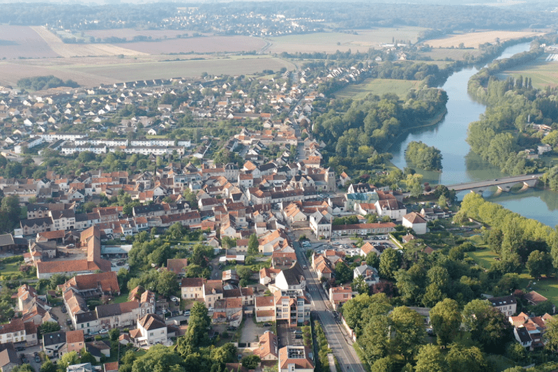
[[[0,25],[0,59],[52,57],[59,55],[31,27]]]

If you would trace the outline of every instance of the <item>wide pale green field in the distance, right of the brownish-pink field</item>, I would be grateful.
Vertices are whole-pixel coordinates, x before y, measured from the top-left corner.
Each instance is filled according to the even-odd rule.
[[[316,34],[276,36],[266,38],[271,45],[267,50],[272,53],[294,52],[366,52],[370,47],[391,43],[393,39],[411,40],[416,43],[421,27],[382,28],[357,30],[356,35],[342,32],[320,32]]]

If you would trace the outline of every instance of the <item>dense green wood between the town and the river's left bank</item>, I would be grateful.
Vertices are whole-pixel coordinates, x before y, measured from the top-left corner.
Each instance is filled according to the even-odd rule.
[[[389,155],[380,154],[386,144],[445,110],[447,100],[446,92],[435,88],[409,91],[401,101],[393,95],[333,100],[316,114],[312,133],[326,143],[330,166],[354,173],[384,163]]]

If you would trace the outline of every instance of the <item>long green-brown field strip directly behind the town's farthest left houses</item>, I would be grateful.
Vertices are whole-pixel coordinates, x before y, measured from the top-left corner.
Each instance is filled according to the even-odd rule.
[[[146,57],[83,57],[71,59],[35,59],[0,61],[0,85],[13,85],[22,77],[55,75],[72,79],[84,87],[145,79],[197,77],[202,73],[214,75],[250,75],[265,69],[294,69],[289,61],[269,56],[230,57],[223,59],[192,59],[162,61],[169,56]],[[172,56],[172,58],[176,58]],[[183,57],[181,57],[182,59]]]

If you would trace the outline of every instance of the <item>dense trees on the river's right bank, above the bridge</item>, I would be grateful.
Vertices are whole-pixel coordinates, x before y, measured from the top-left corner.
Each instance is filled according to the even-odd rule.
[[[534,61],[543,53],[538,43],[529,52],[497,60],[474,75],[468,83],[469,94],[488,105],[480,120],[469,125],[467,142],[472,151],[504,173],[525,174],[545,170],[543,161],[534,154],[541,144],[540,125],[552,126],[558,121],[555,89],[535,89],[529,77],[498,80],[497,74],[507,68]],[[554,175],[547,178],[548,180]],[[549,181],[550,183],[550,181]]]

